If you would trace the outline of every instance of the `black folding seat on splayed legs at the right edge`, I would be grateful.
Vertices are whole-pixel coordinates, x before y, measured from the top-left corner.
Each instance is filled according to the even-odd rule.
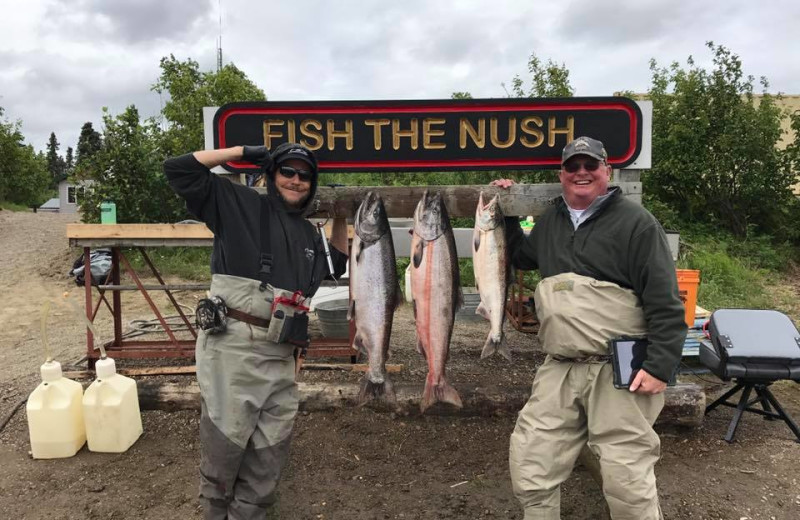
[[[800,429],[768,388],[782,379],[800,382],[800,332],[792,320],[773,310],[719,309],[711,314],[708,335],[709,341],[700,343],[701,363],[723,381],[736,383],[706,407],[706,414],[719,405],[736,408],[725,440],[733,442],[747,411],[782,419],[800,442]],[[727,401],[740,390],[738,403]],[[750,400],[753,390],[757,397]]]

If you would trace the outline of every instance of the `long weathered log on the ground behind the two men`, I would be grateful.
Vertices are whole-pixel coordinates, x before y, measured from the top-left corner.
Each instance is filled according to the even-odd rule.
[[[199,410],[200,389],[189,384],[139,380],[139,404],[144,410]],[[427,413],[456,416],[512,415],[519,412],[530,397],[529,386],[456,385],[464,407],[436,404]],[[298,383],[300,410],[316,412],[356,406],[358,384]],[[365,406],[401,415],[419,415],[422,385],[397,384],[396,405],[368,403]],[[622,391],[622,390],[620,390]],[[706,398],[694,384],[668,387],[665,404],[657,424],[699,426],[703,422]]]

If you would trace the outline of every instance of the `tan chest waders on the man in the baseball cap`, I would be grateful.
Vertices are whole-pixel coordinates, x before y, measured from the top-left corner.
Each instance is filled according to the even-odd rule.
[[[539,337],[548,355],[517,418],[509,448],[514,494],[525,520],[560,519],[560,484],[584,444],[600,460],[603,493],[615,520],[660,519],[653,431],[663,394],[616,389],[606,341],[641,336],[636,296],[609,282],[565,273],[536,289]]]

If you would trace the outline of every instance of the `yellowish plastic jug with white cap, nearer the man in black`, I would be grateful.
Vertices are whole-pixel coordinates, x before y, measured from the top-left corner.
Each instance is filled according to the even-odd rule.
[[[83,394],[83,417],[90,451],[122,453],[142,434],[136,381],[117,374],[111,358],[95,364],[97,379]]]

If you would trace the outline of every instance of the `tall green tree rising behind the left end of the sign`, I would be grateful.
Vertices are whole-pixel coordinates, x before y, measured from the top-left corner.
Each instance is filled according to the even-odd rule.
[[[179,61],[171,54],[161,58],[161,76],[152,89],[169,98],[161,111],[167,122],[163,133],[167,156],[204,148],[203,107],[266,100],[264,92],[231,63],[216,72],[202,72],[196,61]]]

